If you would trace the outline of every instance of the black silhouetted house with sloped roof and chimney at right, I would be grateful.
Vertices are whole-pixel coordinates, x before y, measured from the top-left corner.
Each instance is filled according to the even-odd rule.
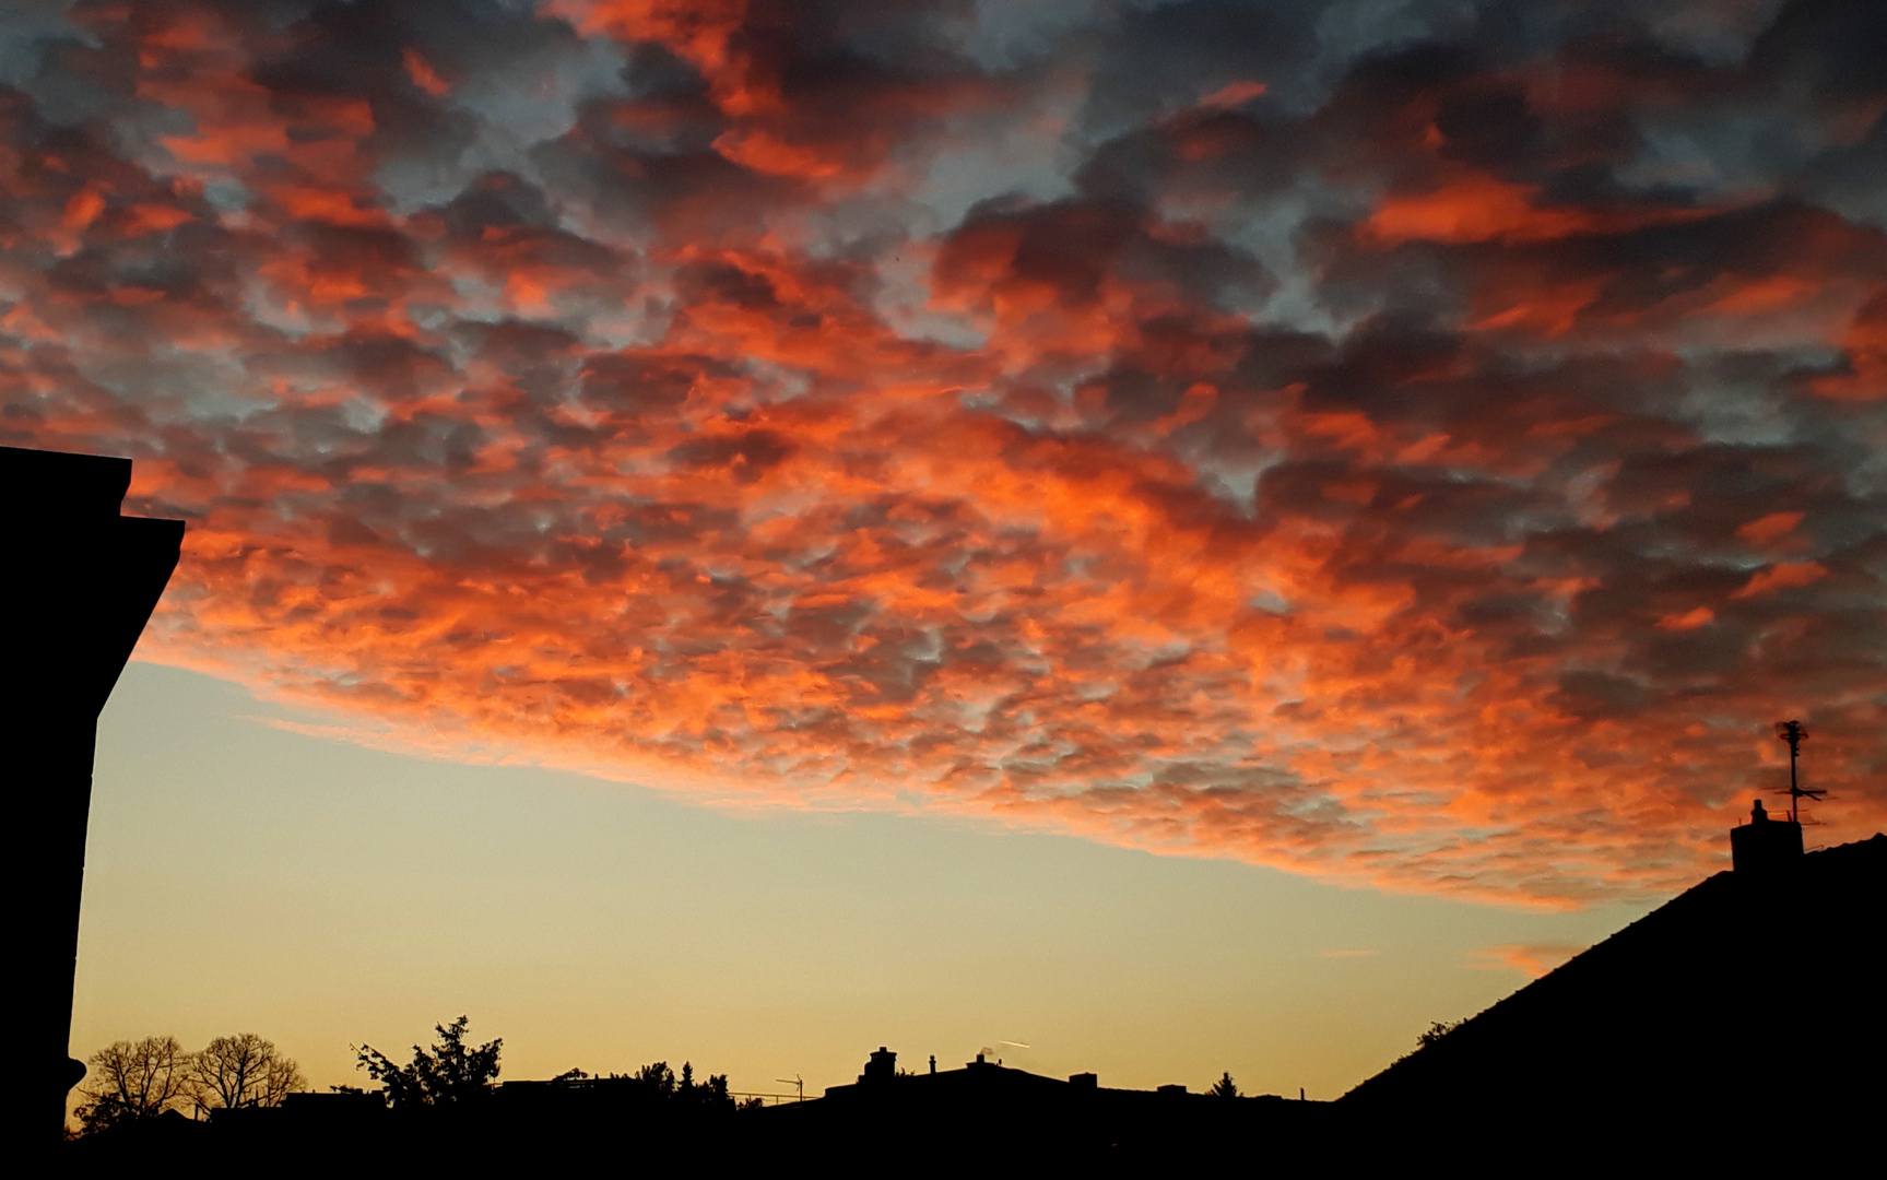
[[[1766,834],[1781,827],[1736,829],[1762,834],[1736,844],[1734,872],[1396,1061],[1338,1108],[1393,1140],[1447,1129],[1483,1148],[1657,1148],[1693,1163],[1878,1148],[1887,836],[1802,855],[1800,829]]]

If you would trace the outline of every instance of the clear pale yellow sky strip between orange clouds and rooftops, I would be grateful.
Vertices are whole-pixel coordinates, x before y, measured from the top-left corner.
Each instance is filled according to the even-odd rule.
[[[504,1037],[508,1078],[687,1059],[819,1093],[889,1044],[1336,1097],[1525,982],[1487,955],[1644,910],[1394,897],[962,819],[721,814],[281,717],[319,721],[126,668],[100,727],[75,1055],[255,1031],[317,1087],[360,1084],[349,1044],[398,1054],[466,1012]]]

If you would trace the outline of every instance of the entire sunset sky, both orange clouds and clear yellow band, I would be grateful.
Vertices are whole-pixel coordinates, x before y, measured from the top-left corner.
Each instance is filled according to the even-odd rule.
[[[1881,60],[1842,0],[0,6],[0,444],[189,523],[74,1050],[1334,1097],[1727,867],[1778,719],[1874,833]]]

